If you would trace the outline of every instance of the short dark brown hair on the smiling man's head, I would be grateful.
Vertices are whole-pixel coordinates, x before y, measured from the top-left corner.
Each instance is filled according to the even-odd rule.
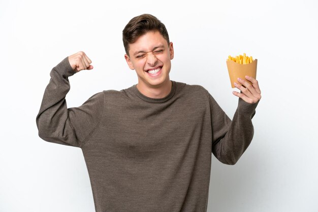
[[[165,24],[153,15],[143,14],[130,20],[122,30],[122,42],[126,54],[129,55],[129,44],[135,43],[140,36],[143,36],[149,31],[160,32],[169,45],[169,35]]]

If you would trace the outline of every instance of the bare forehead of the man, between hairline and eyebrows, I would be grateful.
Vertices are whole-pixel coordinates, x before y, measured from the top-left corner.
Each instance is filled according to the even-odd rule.
[[[140,36],[135,43],[129,44],[129,53],[134,54],[138,51],[149,52],[159,46],[168,47],[168,42],[160,32],[149,31]]]

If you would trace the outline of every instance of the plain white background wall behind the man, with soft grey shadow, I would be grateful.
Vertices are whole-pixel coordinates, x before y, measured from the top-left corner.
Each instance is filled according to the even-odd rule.
[[[49,72],[80,50],[94,69],[70,78],[68,107],[137,83],[121,32],[150,13],[174,43],[171,80],[204,86],[230,118],[228,55],[258,59],[255,136],[234,166],[212,159],[208,211],[318,211],[318,3],[307,1],[0,2],[0,211],[93,211],[79,148],[38,137]]]

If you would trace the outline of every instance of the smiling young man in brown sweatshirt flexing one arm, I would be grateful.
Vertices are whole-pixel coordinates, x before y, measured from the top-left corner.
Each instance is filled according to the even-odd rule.
[[[68,77],[93,67],[83,52],[65,58],[50,73],[39,136],[82,149],[96,211],[206,211],[211,153],[235,164],[250,144],[258,82],[238,81],[231,121],[203,87],[170,81],[173,44],[154,16],[133,18],[123,43],[138,84],[68,109]]]

